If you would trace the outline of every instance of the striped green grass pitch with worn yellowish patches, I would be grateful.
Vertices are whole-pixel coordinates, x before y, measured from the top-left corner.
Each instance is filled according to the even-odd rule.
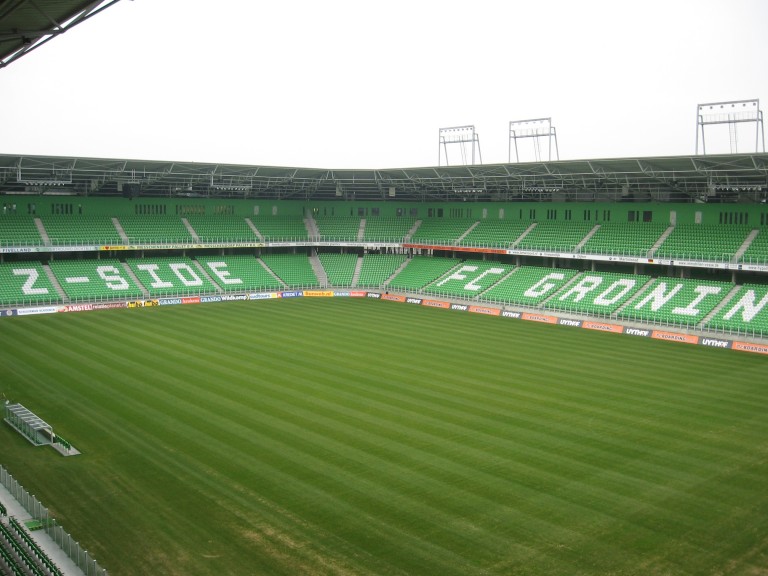
[[[0,321],[113,576],[768,571],[766,358],[354,299]]]

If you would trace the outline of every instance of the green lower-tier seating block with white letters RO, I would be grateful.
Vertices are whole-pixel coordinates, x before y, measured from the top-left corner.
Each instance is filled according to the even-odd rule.
[[[584,272],[554,297],[546,308],[608,316],[630,300],[651,280],[642,274],[620,274],[615,272]]]

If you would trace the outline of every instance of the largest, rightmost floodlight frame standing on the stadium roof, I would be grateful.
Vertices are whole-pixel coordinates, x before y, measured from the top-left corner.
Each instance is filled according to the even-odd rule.
[[[728,143],[730,153],[739,152],[739,130],[741,124],[755,124],[755,153],[765,152],[765,127],[763,125],[763,111],[760,110],[760,100],[732,100],[729,102],[708,102],[696,107],[696,154],[706,154],[705,128],[707,126],[721,125],[728,129]],[[701,136],[701,137],[699,137]],[[699,151],[701,142],[701,152]]]

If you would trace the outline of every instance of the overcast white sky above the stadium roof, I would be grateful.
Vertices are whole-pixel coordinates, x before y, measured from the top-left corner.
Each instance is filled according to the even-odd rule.
[[[0,69],[0,153],[433,166],[473,124],[489,164],[551,117],[561,159],[693,154],[697,104],[768,106],[766,23],[764,0],[123,0]]]

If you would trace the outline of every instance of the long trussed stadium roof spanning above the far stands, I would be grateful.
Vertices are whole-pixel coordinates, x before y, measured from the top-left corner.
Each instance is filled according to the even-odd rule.
[[[0,155],[0,193],[297,200],[764,202],[768,154],[368,170]]]

